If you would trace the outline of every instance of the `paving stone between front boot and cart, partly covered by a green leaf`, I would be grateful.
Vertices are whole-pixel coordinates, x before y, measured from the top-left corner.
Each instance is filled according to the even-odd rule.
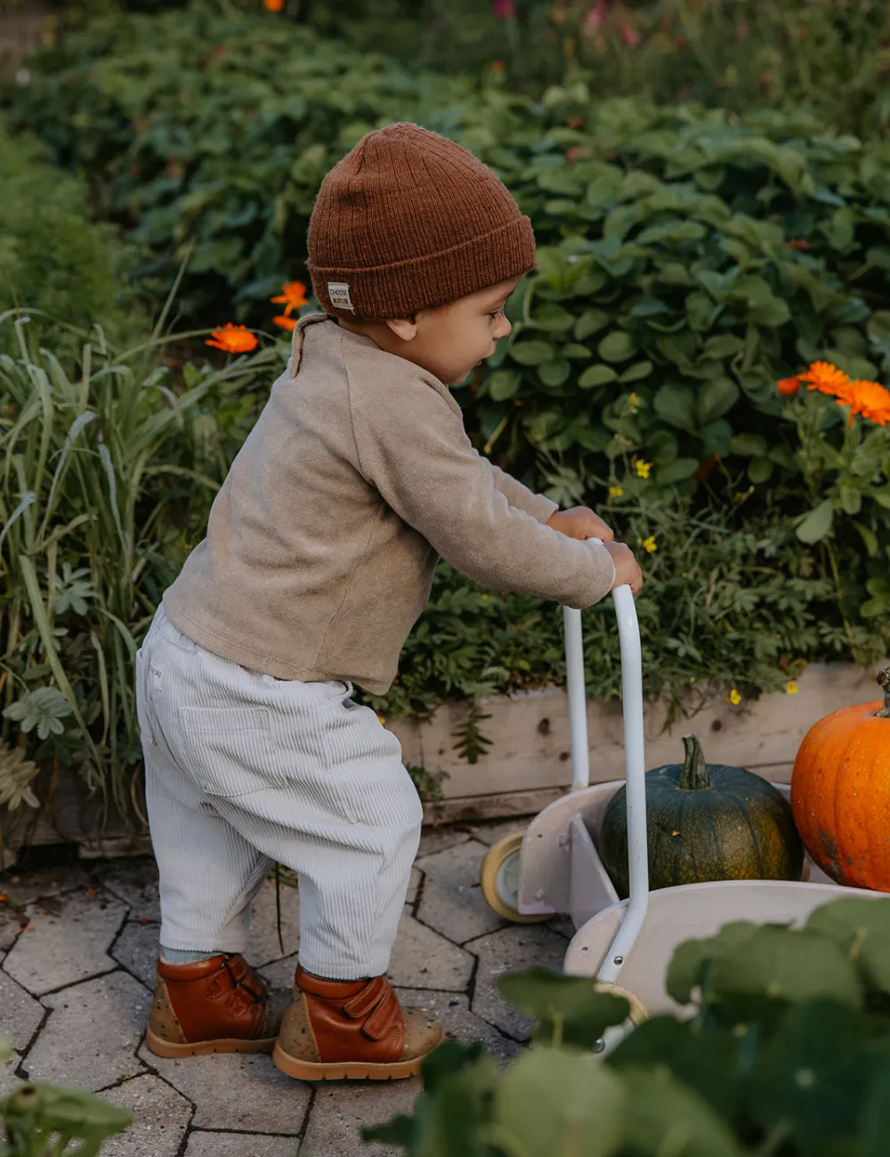
[[[524,968],[561,968],[566,938],[546,924],[510,924],[468,944],[479,958],[472,1011],[517,1040],[525,1040],[532,1020],[521,1016],[498,992],[495,981],[505,972]]]

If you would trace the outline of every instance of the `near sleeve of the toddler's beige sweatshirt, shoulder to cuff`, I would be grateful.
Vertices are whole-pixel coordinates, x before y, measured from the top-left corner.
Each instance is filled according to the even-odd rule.
[[[457,403],[435,379],[418,371],[384,384],[356,374],[350,404],[361,473],[457,570],[495,590],[573,607],[611,590],[605,547],[567,538],[510,506],[470,443]]]

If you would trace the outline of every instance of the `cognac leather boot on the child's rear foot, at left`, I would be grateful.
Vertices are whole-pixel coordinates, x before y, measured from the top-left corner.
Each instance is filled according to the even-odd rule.
[[[194,964],[159,960],[146,1042],[159,1056],[271,1053],[289,1001],[238,953]]]

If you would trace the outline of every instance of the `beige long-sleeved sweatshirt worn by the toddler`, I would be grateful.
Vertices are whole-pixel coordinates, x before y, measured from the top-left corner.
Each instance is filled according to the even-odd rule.
[[[477,454],[432,374],[303,318],[164,610],[241,666],[383,693],[440,555],[498,590],[603,598],[609,552],[544,525],[556,509]]]

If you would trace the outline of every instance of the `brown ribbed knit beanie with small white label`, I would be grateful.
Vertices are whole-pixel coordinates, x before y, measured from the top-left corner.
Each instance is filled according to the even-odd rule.
[[[324,178],[308,265],[325,312],[411,317],[534,268],[535,235],[472,153],[418,125],[391,125]]]

